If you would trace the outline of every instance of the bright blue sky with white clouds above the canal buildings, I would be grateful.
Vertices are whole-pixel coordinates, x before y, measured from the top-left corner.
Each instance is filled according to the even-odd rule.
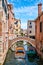
[[[13,6],[15,18],[21,20],[21,28],[27,29],[27,21],[37,18],[37,5],[38,3],[42,3],[43,5],[43,0],[8,0],[8,3],[11,3]]]

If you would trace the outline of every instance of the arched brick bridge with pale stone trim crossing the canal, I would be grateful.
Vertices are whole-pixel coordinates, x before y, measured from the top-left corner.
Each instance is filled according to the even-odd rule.
[[[27,41],[29,42],[33,47],[36,47],[35,45],[35,40],[34,39],[31,39],[29,37],[17,37],[17,38],[14,38],[13,40],[9,40],[9,48],[17,41]]]

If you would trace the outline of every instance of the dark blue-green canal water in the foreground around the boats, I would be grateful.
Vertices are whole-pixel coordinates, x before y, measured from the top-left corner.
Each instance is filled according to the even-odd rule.
[[[26,48],[27,50],[27,48]],[[43,62],[40,60],[38,56],[28,57],[26,54],[25,59],[15,59],[15,52],[9,49],[4,65],[43,65]]]

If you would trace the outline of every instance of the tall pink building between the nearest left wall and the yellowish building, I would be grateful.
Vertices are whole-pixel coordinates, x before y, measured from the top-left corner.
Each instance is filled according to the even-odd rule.
[[[9,39],[14,36],[13,35],[13,22],[14,22],[14,13],[12,4],[8,4],[8,31],[9,31]]]

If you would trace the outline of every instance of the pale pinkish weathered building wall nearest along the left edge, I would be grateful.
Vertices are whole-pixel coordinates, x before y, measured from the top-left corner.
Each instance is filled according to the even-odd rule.
[[[8,9],[7,0],[0,0],[0,64],[5,60],[8,50]]]

